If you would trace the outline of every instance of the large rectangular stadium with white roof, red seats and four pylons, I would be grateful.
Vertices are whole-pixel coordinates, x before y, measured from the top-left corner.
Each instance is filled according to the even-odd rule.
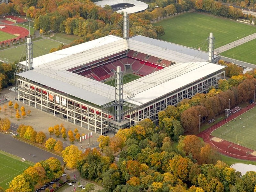
[[[213,34],[208,52],[145,36],[105,36],[33,58],[16,73],[18,100],[100,134],[139,124],[158,123],[158,112],[196,93],[217,87],[225,66],[215,64]],[[129,75],[129,78],[123,78]],[[105,84],[113,81],[114,86]]]

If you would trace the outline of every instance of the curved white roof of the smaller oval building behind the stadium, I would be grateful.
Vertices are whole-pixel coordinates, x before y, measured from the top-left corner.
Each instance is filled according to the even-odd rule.
[[[113,6],[113,5],[117,5],[117,4],[133,4],[133,5],[135,5],[133,7],[128,7],[125,10],[121,9],[121,10],[116,11],[118,13],[125,11],[128,14],[141,12],[141,11],[144,11],[144,10],[148,9],[147,4],[145,4],[141,1],[136,1],[136,0],[103,0],[103,1],[95,2],[95,4],[99,5],[101,7],[104,7],[105,5]]]

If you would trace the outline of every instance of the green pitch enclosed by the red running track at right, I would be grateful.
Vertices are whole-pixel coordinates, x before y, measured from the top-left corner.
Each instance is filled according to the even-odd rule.
[[[233,121],[221,126],[212,132],[212,136],[239,144],[256,151],[256,108],[252,108]],[[243,128],[243,126],[245,126]]]

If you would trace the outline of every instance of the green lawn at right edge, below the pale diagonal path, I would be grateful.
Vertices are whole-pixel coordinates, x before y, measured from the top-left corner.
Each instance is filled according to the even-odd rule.
[[[253,39],[247,43],[241,44],[233,49],[229,49],[228,51],[222,52],[220,55],[225,57],[231,57],[236,60],[245,61],[247,63],[252,63],[256,65],[255,60],[255,47],[256,39]]]

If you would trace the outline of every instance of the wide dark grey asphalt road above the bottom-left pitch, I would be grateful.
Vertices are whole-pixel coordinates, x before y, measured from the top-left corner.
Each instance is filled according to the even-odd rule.
[[[12,126],[12,129],[15,129],[15,127]],[[28,161],[37,163],[49,159],[50,157],[55,157],[60,160],[62,165],[64,164],[62,157],[17,140],[13,138],[11,134],[0,133],[0,141],[0,150],[19,156],[20,158],[25,158]],[[33,155],[35,155],[35,157],[33,157]]]

